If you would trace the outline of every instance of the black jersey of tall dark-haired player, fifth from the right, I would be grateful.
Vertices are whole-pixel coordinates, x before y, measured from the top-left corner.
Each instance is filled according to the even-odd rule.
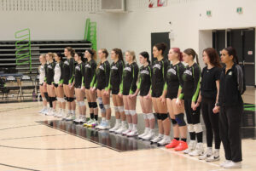
[[[166,83],[166,72],[168,65],[169,61],[166,59],[162,59],[160,61],[155,60],[152,64],[152,94],[157,94],[157,97],[163,92]]]

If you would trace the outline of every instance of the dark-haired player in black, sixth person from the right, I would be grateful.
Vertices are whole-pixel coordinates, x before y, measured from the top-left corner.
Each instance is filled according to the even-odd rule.
[[[151,87],[151,75],[152,68],[150,66],[149,54],[148,52],[142,52],[139,55],[140,63],[143,65],[139,71],[139,83],[135,94],[131,97],[136,97],[138,92],[140,92],[140,103],[143,110],[143,117],[145,121],[145,130],[143,134],[138,137],[143,140],[151,140],[154,137],[154,114],[152,111],[152,100],[147,99]]]

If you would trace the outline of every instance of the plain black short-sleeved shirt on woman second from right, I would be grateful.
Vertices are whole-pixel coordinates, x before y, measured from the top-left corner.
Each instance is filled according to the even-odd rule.
[[[219,80],[221,68],[213,67],[207,69],[207,66],[201,71],[201,96],[205,98],[216,98],[216,81]]]

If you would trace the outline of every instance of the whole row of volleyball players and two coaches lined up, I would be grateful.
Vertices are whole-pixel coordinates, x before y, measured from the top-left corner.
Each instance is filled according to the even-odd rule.
[[[81,53],[75,53],[73,48],[65,48],[65,62],[61,61],[61,54],[41,55],[40,90],[44,103],[41,112],[84,123],[84,126],[96,126],[117,134],[137,136],[136,100],[140,92],[145,130],[143,134],[138,135],[139,138],[166,145],[166,148],[175,148],[176,151],[184,151],[190,156],[200,156],[200,159],[208,162],[219,160],[222,140],[227,160],[223,166],[237,167],[237,163],[241,162],[241,137],[238,132],[244,83],[241,68],[237,65],[236,50],[224,48],[221,59],[226,66],[221,69],[216,50],[205,49],[203,60],[207,66],[202,72],[200,66],[194,62],[195,58],[198,61],[198,57],[192,48],[184,50],[183,53],[179,48],[171,48],[168,60],[163,57],[165,50],[164,43],[154,45],[153,54],[156,60],[152,65],[148,53],[141,53],[140,69],[134,52],[125,52],[125,64],[119,48],[113,48],[111,51],[111,65],[107,60],[106,49],[98,51],[97,55],[101,60],[98,66],[96,52],[90,49],[86,50],[83,56]],[[183,66],[182,60],[188,66]],[[75,115],[74,92],[79,105],[79,117]],[[110,128],[110,92],[116,118],[113,128]],[[64,112],[64,94],[68,105],[67,115]],[[85,117],[84,95],[90,108],[89,121],[86,121]],[[96,97],[102,113],[100,124],[97,122]],[[55,112],[56,100],[61,108],[59,113]],[[153,107],[159,127],[157,136],[154,134]],[[184,120],[184,111],[187,123]],[[202,144],[201,111],[207,128],[205,152]],[[171,122],[173,140],[170,137]],[[189,145],[186,142],[187,129],[190,136]],[[213,153],[212,130],[215,141]]]

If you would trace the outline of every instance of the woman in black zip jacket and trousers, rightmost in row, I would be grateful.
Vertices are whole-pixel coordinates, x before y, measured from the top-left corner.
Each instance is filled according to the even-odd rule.
[[[220,166],[241,168],[241,94],[246,89],[245,81],[235,48],[224,48],[221,51],[221,61],[225,67],[220,74],[218,103],[213,109],[214,112],[220,111],[219,135],[226,158]]]

